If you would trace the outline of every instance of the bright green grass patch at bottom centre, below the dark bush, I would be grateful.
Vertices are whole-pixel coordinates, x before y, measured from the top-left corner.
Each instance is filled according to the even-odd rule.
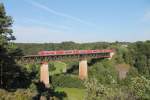
[[[65,92],[67,97],[64,100],[84,100],[85,90],[79,88],[56,88],[56,91]]]

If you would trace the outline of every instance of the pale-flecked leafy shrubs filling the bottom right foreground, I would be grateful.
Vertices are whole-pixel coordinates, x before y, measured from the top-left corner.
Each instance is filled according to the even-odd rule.
[[[85,100],[149,100],[150,80],[144,77],[131,78],[128,86],[105,85],[96,78],[85,81]]]

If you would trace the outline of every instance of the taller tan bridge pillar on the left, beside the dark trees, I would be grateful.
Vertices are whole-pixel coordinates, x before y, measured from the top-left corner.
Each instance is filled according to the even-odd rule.
[[[45,87],[49,87],[49,72],[48,72],[48,63],[44,62],[40,68],[40,81],[45,85]]]

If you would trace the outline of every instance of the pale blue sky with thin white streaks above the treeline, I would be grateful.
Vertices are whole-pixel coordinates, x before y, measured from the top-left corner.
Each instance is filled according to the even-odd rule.
[[[150,40],[150,0],[0,0],[15,42]]]

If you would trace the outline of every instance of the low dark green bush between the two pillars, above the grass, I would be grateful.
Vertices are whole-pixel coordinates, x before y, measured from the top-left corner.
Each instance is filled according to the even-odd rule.
[[[54,87],[84,88],[82,80],[70,75],[52,76],[52,85]]]

